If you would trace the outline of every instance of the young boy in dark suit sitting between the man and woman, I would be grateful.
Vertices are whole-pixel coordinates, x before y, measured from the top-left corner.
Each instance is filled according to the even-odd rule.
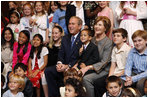
[[[83,29],[80,35],[80,40],[82,41],[83,45],[79,49],[80,58],[78,60],[78,63],[75,64],[75,67],[77,67],[78,69],[91,67],[87,65],[92,65],[99,61],[98,47],[91,42],[91,39],[91,31],[89,29]]]

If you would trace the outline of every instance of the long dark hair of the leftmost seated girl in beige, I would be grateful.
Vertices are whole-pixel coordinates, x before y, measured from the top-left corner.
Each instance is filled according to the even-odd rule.
[[[12,36],[12,38],[10,40],[10,49],[13,50],[13,44],[15,42],[15,39],[14,39],[13,31],[12,31],[12,29],[10,27],[5,27],[4,30],[3,30],[3,32],[2,32],[2,39],[1,39],[1,45],[3,46],[3,45],[6,44],[6,40],[5,40],[4,36],[5,36],[5,32],[7,30],[9,30],[9,32],[11,33],[11,36]]]

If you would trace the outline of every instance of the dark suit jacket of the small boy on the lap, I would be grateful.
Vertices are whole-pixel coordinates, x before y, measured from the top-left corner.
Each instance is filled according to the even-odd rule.
[[[97,62],[99,62],[98,47],[90,42],[80,56],[78,68],[81,63],[85,63],[85,65],[92,65]]]

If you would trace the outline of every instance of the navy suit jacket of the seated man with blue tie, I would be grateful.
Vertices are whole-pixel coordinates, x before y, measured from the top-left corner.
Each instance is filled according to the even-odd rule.
[[[65,35],[61,42],[61,49],[58,54],[58,61],[61,61],[63,64],[69,64],[71,67],[76,63],[79,59],[79,49],[82,45],[80,41],[80,33],[78,34],[75,42],[73,44],[73,48],[71,49],[71,35]]]

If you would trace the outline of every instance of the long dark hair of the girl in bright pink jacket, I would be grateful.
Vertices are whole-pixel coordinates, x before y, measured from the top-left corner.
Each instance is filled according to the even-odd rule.
[[[23,49],[23,54],[25,54],[25,53],[27,52],[27,49],[28,49],[28,43],[29,43],[29,40],[30,40],[30,33],[29,33],[28,30],[22,30],[20,33],[25,34],[26,37],[28,38],[28,40],[26,41],[26,43],[24,43],[24,44],[25,44],[25,47],[24,47],[24,49]],[[20,45],[19,42],[18,42],[17,53],[19,53],[20,47],[21,47],[21,45]]]

